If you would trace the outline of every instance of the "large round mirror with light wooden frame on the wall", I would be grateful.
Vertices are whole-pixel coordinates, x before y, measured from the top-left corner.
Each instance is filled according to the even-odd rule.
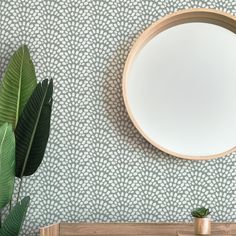
[[[154,146],[186,159],[236,146],[236,20],[185,10],[151,25],[128,56],[123,95],[131,120]]]

